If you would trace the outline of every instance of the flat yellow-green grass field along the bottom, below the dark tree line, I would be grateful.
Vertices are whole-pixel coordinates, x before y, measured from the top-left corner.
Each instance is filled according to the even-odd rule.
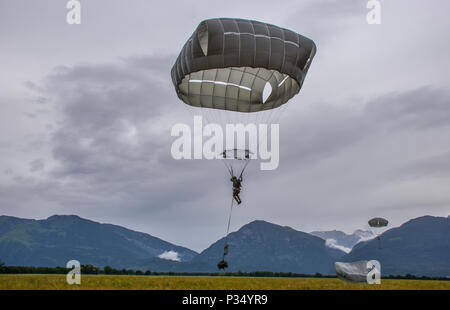
[[[85,275],[0,275],[0,290],[450,290],[450,281],[381,280],[380,285],[326,278]]]

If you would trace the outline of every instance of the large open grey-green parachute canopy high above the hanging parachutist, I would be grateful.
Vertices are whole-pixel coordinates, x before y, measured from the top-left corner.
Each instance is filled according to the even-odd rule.
[[[312,40],[291,30],[253,20],[208,19],[183,46],[172,82],[191,106],[274,109],[300,91],[315,53]]]

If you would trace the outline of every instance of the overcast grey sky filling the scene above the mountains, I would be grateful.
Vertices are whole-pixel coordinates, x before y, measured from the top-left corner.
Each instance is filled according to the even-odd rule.
[[[352,232],[450,213],[450,2],[0,0],[0,214],[53,214],[147,232],[201,251],[230,203],[217,161],[176,161],[192,113],[170,69],[204,19],[247,18],[318,52],[280,117],[280,166],[249,166],[231,225],[263,219]]]

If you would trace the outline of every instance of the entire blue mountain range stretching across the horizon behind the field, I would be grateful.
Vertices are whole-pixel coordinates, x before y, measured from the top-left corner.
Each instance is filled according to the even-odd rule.
[[[371,237],[366,231],[305,233],[253,221],[228,236],[227,271],[334,274],[336,261],[377,259],[383,274],[450,276],[448,236],[450,217],[416,218],[386,231],[380,240],[366,240]],[[0,216],[0,260],[6,265],[53,267],[77,259],[99,267],[217,272],[224,244],[222,238],[197,253],[149,234],[75,215],[44,220]],[[352,249],[346,253],[340,247]]]

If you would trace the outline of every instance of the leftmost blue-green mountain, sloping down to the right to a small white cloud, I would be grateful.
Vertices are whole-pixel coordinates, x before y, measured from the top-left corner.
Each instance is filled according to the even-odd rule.
[[[95,266],[126,267],[136,259],[174,252],[180,261],[197,255],[149,234],[75,215],[45,220],[0,216],[0,260],[8,265],[64,266],[77,259]]]

